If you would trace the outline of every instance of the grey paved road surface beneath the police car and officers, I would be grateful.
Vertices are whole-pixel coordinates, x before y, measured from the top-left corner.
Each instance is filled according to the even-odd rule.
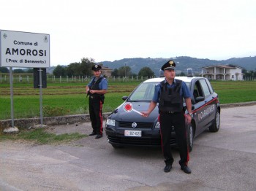
[[[113,149],[105,136],[70,144],[0,144],[0,190],[256,190],[256,106],[222,109],[221,128],[195,139],[192,174],[164,173],[158,148]],[[48,129],[90,133],[89,123]]]

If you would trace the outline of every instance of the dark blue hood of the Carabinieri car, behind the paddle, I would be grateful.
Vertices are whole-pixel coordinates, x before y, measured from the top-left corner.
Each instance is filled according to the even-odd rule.
[[[151,112],[148,117],[142,117],[135,111],[126,112],[124,110],[124,104],[128,102],[124,102],[118,108],[110,114],[110,119],[117,121],[126,121],[126,122],[155,122],[158,118],[158,106]],[[150,102],[129,102],[132,104],[132,109],[137,110],[138,112],[146,112],[148,110],[148,106]]]

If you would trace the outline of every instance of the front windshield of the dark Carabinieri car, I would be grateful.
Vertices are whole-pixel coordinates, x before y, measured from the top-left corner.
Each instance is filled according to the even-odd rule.
[[[154,87],[159,84],[159,82],[146,82],[141,83],[130,95],[129,101],[151,101],[154,96]],[[189,82],[186,82],[187,87],[189,87]]]

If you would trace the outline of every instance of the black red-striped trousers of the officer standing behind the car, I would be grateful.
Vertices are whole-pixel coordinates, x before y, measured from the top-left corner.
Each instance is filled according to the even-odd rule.
[[[102,136],[102,101],[99,98],[89,98],[89,114],[93,132]]]

